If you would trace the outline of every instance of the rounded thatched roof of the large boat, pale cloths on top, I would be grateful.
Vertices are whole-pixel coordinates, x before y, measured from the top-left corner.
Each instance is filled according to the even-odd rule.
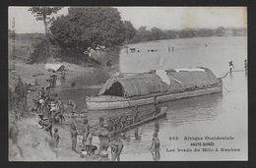
[[[112,77],[103,84],[98,95],[133,97],[160,92],[180,92],[219,83],[213,72],[207,68],[197,68],[191,71],[189,69],[171,69],[164,72],[165,77],[160,76],[157,72]]]

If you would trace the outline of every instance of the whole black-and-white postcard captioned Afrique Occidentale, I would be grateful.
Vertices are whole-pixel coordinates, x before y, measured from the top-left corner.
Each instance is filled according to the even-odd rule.
[[[247,7],[8,7],[9,161],[248,161]]]

